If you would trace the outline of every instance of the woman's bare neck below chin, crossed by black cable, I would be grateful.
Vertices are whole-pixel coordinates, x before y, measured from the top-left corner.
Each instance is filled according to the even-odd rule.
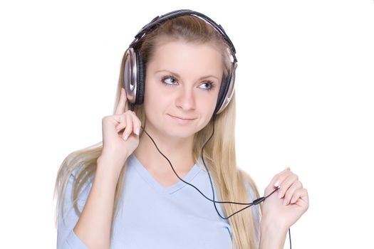
[[[145,130],[155,141],[160,152],[170,160],[175,171],[187,173],[194,166],[193,135],[187,138],[175,138],[160,134],[155,129],[148,128]],[[170,174],[172,172],[170,164],[160,152],[157,151],[150,137],[142,132],[139,146],[134,152],[135,157],[148,171],[157,172],[157,174]]]

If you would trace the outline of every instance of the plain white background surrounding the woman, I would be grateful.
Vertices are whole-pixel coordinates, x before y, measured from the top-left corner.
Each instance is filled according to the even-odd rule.
[[[373,246],[374,2],[134,2],[1,1],[0,248],[56,247],[58,167],[100,142],[123,52],[175,9],[237,48],[241,168],[261,192],[286,166],[308,189],[293,248]]]

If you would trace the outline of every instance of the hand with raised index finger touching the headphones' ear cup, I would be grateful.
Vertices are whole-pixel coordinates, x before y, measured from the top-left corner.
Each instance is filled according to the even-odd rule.
[[[115,115],[105,116],[102,120],[103,151],[99,159],[115,167],[118,173],[139,144],[141,122],[135,112],[125,111],[126,105],[126,92],[121,88]]]

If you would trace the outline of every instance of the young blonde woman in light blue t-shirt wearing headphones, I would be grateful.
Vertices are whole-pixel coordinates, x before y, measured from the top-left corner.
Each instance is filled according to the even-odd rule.
[[[261,212],[237,204],[260,196],[236,161],[234,53],[222,27],[194,11],[142,28],[123,56],[103,142],[58,171],[58,249],[283,248],[308,194],[285,169]]]

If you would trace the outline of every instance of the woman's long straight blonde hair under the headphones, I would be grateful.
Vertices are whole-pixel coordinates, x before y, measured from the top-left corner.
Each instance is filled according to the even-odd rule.
[[[222,36],[217,33],[212,26],[200,18],[194,16],[179,16],[177,18],[172,18],[144,36],[144,41],[142,41],[140,47],[140,55],[142,56],[145,65],[147,65],[147,62],[152,59],[153,51],[155,51],[157,44],[160,43],[161,38],[175,38],[176,40],[183,40],[192,43],[211,43],[214,46],[218,46],[222,50],[224,76],[227,76],[228,73],[230,73],[229,70],[231,66],[230,60],[228,59],[229,56],[227,55],[227,44]],[[123,58],[117,92],[115,95],[113,114],[115,113],[115,107],[117,106],[120,97],[120,89],[122,88],[124,62]],[[214,135],[204,147],[204,161],[206,162],[209,172],[214,180],[214,187],[217,189],[219,201],[249,203],[253,200],[249,200],[249,189],[246,188],[245,184],[248,184],[254,191],[256,198],[259,197],[259,192],[249,174],[239,169],[237,166],[234,134],[235,110],[234,94],[226,109],[217,115],[215,122],[213,122],[212,119],[206,127],[194,135],[194,159],[197,161],[201,156],[200,153],[204,142],[206,142],[212,134],[214,125]],[[135,106],[135,113],[141,120],[142,126],[144,126],[145,113],[142,105]],[[77,203],[78,195],[80,194],[80,191],[82,191],[83,186],[92,182],[97,166],[96,160],[100,157],[102,149],[103,142],[99,142],[93,146],[72,152],[63,160],[63,163],[58,170],[55,186],[55,195],[57,194],[58,196],[56,203],[56,217],[58,215],[60,204],[63,210],[63,199],[68,179],[73,171],[76,170],[78,170],[78,173],[76,174],[76,181],[74,181],[73,184],[72,198],[74,209],[80,215],[81,211],[78,209]],[[127,162],[123,166],[115,189],[112,231],[113,221],[115,221],[118,203],[120,201],[120,196],[122,195],[123,184],[125,184],[124,179],[126,167]],[[225,217],[241,208],[244,208],[244,206],[232,203],[217,205],[222,206],[222,210],[224,211],[223,215]],[[257,208],[257,206],[251,208]],[[246,208],[244,211],[241,211],[228,219],[232,228],[233,248],[246,249],[258,247],[259,224],[255,223],[251,208]]]

